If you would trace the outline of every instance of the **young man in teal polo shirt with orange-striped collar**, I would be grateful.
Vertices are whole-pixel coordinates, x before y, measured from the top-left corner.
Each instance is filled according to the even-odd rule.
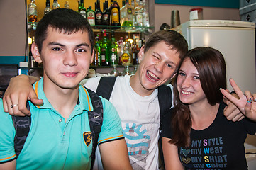
[[[75,11],[53,10],[38,23],[31,51],[36,62],[43,62],[44,77],[33,85],[43,105],[29,103],[30,132],[17,158],[13,120],[0,101],[0,169],[90,169],[92,142],[83,134],[90,132],[87,111],[93,106],[79,82],[94,56],[91,27]],[[104,168],[131,169],[118,113],[109,101],[101,101],[98,142]]]

